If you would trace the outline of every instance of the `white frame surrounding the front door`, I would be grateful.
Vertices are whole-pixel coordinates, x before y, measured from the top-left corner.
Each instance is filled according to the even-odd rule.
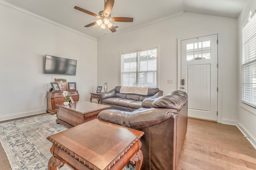
[[[220,60],[220,56],[221,56],[221,42],[222,42],[222,34],[221,32],[207,32],[207,33],[203,33],[203,34],[196,34],[196,35],[192,35],[192,36],[186,36],[186,37],[180,37],[178,38],[177,42],[178,42],[178,79],[177,79],[177,88],[178,90],[181,89],[181,85],[180,85],[180,80],[181,80],[181,41],[182,40],[188,40],[188,39],[192,39],[192,38],[197,38],[197,37],[204,37],[204,36],[210,36],[213,34],[217,34],[218,35],[218,106],[217,106],[217,111],[218,111],[218,116],[217,116],[217,122],[218,123],[222,123],[222,110],[220,108],[222,108],[222,72],[221,72],[221,60]],[[189,102],[189,101],[188,101]]]

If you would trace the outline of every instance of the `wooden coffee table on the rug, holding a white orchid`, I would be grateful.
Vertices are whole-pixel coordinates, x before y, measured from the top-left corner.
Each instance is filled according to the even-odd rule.
[[[82,123],[97,119],[98,114],[111,106],[87,101],[77,101],[71,105],[57,105],[56,123],[72,128]]]

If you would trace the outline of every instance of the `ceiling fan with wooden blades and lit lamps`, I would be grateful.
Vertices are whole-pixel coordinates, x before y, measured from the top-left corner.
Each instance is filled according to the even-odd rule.
[[[92,16],[96,16],[97,18],[99,18],[99,20],[92,22],[84,27],[90,27],[90,26],[94,26],[94,25],[98,25],[100,26],[100,28],[106,28],[108,27],[110,31],[112,32],[116,32],[116,28],[118,28],[118,26],[113,26],[111,24],[110,21],[114,21],[114,22],[133,22],[133,18],[128,18],[128,17],[111,17],[110,13],[112,11],[112,8],[114,6],[114,0],[104,0],[104,11],[100,11],[99,15],[94,14],[93,12],[90,12],[88,10],[85,10],[83,8],[80,8],[78,6],[75,6],[74,8],[76,10],[82,11],[86,14],[92,15]]]

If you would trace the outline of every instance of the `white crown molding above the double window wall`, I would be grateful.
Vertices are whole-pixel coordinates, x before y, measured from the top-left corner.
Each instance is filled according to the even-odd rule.
[[[182,14],[184,14],[184,11],[180,11],[180,12],[176,12],[174,14],[171,14],[169,16],[165,16],[163,18],[158,18],[157,20],[153,20],[151,22],[146,22],[144,24],[141,24],[139,26],[136,26],[134,28],[130,28],[128,30],[124,30],[122,32],[118,32],[118,34],[115,34],[115,35],[108,35],[108,36],[104,36],[102,38],[98,38],[98,41],[99,40],[104,40],[104,39],[107,39],[107,38],[110,38],[110,37],[113,37],[113,36],[117,36],[119,34],[122,34],[122,33],[125,33],[125,32],[130,32],[130,31],[133,31],[133,30],[137,30],[137,29],[140,29],[140,28],[144,28],[146,26],[150,26],[150,25],[154,25],[154,24],[157,24],[157,23],[160,23],[160,22],[164,22],[166,20],[170,20],[170,19],[173,19],[173,18],[177,18],[179,16],[182,16]]]

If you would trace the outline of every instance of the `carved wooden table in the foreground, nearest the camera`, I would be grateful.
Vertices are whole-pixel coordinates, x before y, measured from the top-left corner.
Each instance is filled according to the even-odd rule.
[[[94,119],[48,136],[52,142],[49,170],[64,164],[74,170],[122,170],[132,161],[140,170],[144,132]]]

